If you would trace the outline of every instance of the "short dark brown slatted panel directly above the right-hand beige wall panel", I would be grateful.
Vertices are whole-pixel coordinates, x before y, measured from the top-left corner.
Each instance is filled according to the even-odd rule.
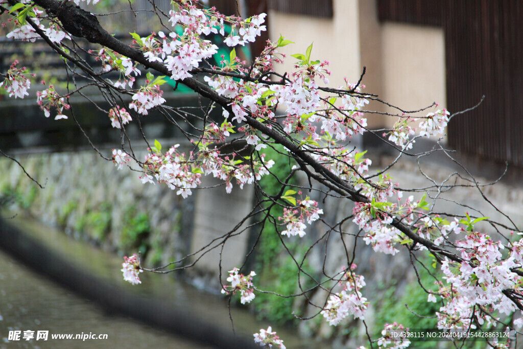
[[[441,26],[444,0],[378,0],[378,16],[410,24]]]

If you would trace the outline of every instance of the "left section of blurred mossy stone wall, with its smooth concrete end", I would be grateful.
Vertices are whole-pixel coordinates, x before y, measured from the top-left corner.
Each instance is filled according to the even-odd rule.
[[[110,156],[109,149],[103,153]],[[211,243],[231,229],[237,215],[248,212],[252,201],[252,190],[235,187],[227,195],[223,186],[211,189],[210,196],[207,189],[193,190],[192,196],[183,199],[165,186],[143,185],[139,172],[118,171],[93,150],[16,158],[44,188],[33,183],[16,162],[0,159],[0,193],[9,198],[12,210],[120,255],[141,251],[148,266],[179,260]],[[207,214],[210,211],[214,216]],[[241,263],[247,240],[245,233],[228,243],[233,251],[225,251],[225,271]],[[195,276],[217,275],[216,254],[198,262]]]

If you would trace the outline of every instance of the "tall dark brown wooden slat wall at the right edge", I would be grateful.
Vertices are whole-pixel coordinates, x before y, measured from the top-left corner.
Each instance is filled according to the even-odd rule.
[[[444,18],[449,145],[523,166],[523,3],[447,0]]]

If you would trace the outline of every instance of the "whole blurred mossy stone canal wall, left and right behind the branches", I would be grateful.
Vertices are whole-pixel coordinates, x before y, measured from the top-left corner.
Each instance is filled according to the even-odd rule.
[[[168,144],[164,141],[162,143]],[[110,149],[102,151],[105,155],[110,153]],[[164,186],[141,184],[138,174],[117,171],[113,163],[100,159],[92,150],[26,153],[17,154],[16,158],[45,188],[40,189],[36,186],[14,161],[0,159],[0,193],[4,198],[10,199],[8,206],[13,211],[18,211],[19,214],[25,212],[43,223],[62,229],[75,239],[88,241],[120,255],[141,250],[143,261],[148,266],[163,265],[179,260],[187,254],[196,253],[185,263],[189,264],[200,256],[201,258],[186,276],[199,286],[214,290],[219,289],[216,276],[221,251],[218,248],[201,255],[198,254],[199,247],[212,243],[214,239],[219,239],[229,231],[240,217],[248,213],[254,200],[252,186],[246,186],[243,190],[235,186],[230,195],[225,194],[223,186],[194,190],[192,196],[183,199]],[[393,156],[381,153],[373,158],[373,164],[383,166],[393,159]],[[420,173],[420,169],[423,174]],[[502,213],[493,208],[495,206],[510,216],[518,227],[523,226],[523,211],[520,210],[523,204],[523,188],[519,183],[500,182],[495,186],[482,186],[489,202],[469,179],[451,176],[453,173],[459,173],[459,168],[452,162],[433,160],[418,164],[413,161],[400,161],[390,173],[405,189],[427,186],[427,177],[437,183],[448,182],[449,178],[452,178],[451,182],[458,187],[452,192],[441,193],[444,200],[439,202],[435,211],[463,214],[465,208],[455,203],[461,201],[476,208],[483,216],[507,223]],[[492,179],[479,177],[478,181],[488,183]],[[218,183],[213,181],[206,183],[211,187],[216,184]],[[352,212],[353,205],[348,200],[324,200],[320,195],[312,195],[313,199],[321,202],[325,212],[322,218],[327,222],[340,221]],[[405,196],[408,195],[410,194],[405,193]],[[422,194],[414,195],[418,198]],[[474,214],[479,215],[477,212]],[[486,224],[483,228],[489,233],[494,233],[488,230],[492,228]],[[347,237],[358,233],[350,220],[343,224],[342,230],[349,234]],[[250,239],[256,236],[256,231],[256,228],[246,230],[228,241],[221,252],[222,271],[226,272],[243,263],[251,248]],[[303,251],[306,251],[306,247],[312,241],[325,233],[321,224],[310,227],[300,244],[292,247],[297,259],[299,260],[300,254],[303,255]],[[275,263],[259,262],[264,261],[263,258],[258,260],[258,264],[251,263],[257,273],[261,271],[257,276],[257,286],[267,290],[272,290],[272,287],[280,288],[278,291],[283,295],[297,294],[300,289],[296,286],[281,289],[286,286],[281,279],[295,278],[296,273],[289,269],[289,264],[293,262],[281,249],[279,238],[277,243],[280,251],[270,255],[270,258],[276,260]],[[432,326],[429,319],[419,320],[413,314],[423,315],[424,311],[435,311],[438,306],[434,305],[434,309],[428,308],[426,294],[423,290],[419,291],[417,277],[406,251],[401,251],[394,257],[377,254],[361,240],[346,238],[342,241],[339,234],[331,234],[327,244],[322,241],[309,252],[307,271],[313,276],[321,277],[324,265],[327,274],[339,272],[346,266],[345,247],[347,251],[357,250],[357,273],[366,278],[367,286],[363,289],[363,295],[372,301],[366,318],[371,329],[374,329],[374,325],[379,327],[384,322],[390,323],[397,319],[400,319],[399,322],[405,322],[406,326],[412,327],[409,321],[418,328]],[[270,250],[267,247],[263,248],[265,250],[262,251],[265,252],[262,253]],[[431,263],[427,261],[426,264]],[[270,283],[268,279],[271,278],[275,283]],[[430,277],[422,276],[422,282],[428,288],[433,285],[433,281]],[[317,313],[317,308],[311,306],[303,297],[267,297],[263,294],[257,295],[254,307],[271,321],[292,321],[292,311],[301,314],[302,317]],[[316,290],[309,292],[308,297],[312,303],[322,305],[328,295],[326,291]],[[405,303],[409,304],[408,309],[405,308]],[[278,314],[282,312],[288,315],[278,320]],[[320,318],[321,316],[314,320],[297,321],[301,334],[331,339],[333,347],[355,347],[358,339],[365,337],[365,328],[361,322],[347,320],[338,327],[331,327]]]

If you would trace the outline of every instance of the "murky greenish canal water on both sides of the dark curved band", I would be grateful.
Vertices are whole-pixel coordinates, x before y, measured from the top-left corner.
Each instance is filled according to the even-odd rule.
[[[44,241],[53,250],[60,251],[68,260],[74,261],[90,273],[108,278],[119,287],[162,299],[166,306],[188,308],[196,317],[230,331],[229,310],[220,297],[201,292],[166,275],[142,273],[142,284],[132,286],[123,281],[120,272],[121,258],[74,241],[60,232],[21,217],[10,220],[10,223]],[[3,318],[0,321],[0,348],[206,347],[130,319],[104,313],[103,309],[94,303],[79,298],[29,271],[4,253],[0,253],[0,316]],[[232,309],[232,316],[236,332],[245,333],[247,336],[252,336],[252,333],[269,325],[266,321],[256,321],[253,314],[244,309]],[[278,331],[288,348],[306,347],[285,329],[273,329]],[[9,330],[21,330],[22,334],[25,330],[35,331],[35,334],[36,331],[43,330],[49,331],[49,336],[52,333],[108,334],[108,339],[82,342],[51,340],[49,337],[48,341],[21,340],[7,343]]]

